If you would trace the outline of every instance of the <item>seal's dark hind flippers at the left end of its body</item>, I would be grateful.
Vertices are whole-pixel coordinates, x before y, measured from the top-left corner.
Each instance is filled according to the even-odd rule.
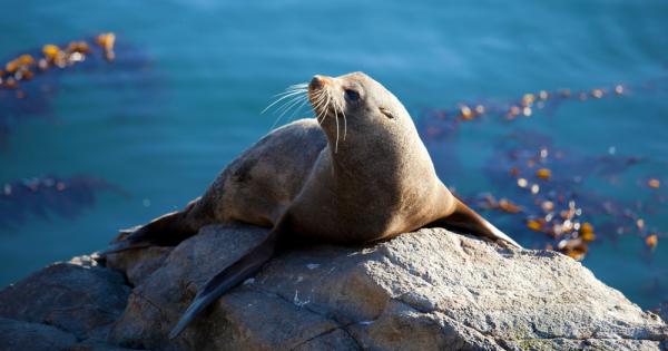
[[[184,211],[168,213],[138,228],[122,231],[117,241],[100,252],[105,256],[131,248],[148,246],[174,246],[197,234],[196,221],[191,214],[197,199],[190,202]]]

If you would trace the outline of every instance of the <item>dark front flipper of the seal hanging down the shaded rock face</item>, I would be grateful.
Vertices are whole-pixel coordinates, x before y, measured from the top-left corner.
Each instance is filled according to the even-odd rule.
[[[171,330],[169,339],[178,337],[178,334],[188,326],[188,323],[190,323],[190,321],[212,302],[216,301],[225,292],[259,271],[259,269],[274,255],[277,238],[277,231],[273,230],[258,246],[212,277],[205,284],[204,289],[197,293],[195,300],[193,300],[176,326]]]

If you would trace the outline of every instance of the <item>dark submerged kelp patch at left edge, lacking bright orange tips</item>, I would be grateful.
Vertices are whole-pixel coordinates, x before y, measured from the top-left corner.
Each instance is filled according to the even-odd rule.
[[[87,176],[7,183],[0,188],[0,230],[16,227],[32,216],[73,218],[94,205],[98,192],[110,189],[115,188],[107,182]]]

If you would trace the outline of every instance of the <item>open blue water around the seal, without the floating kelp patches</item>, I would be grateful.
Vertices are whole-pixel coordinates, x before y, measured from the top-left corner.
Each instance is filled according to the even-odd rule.
[[[84,175],[114,188],[96,191],[76,216],[31,215],[0,227],[0,285],[180,208],[269,130],[276,116],[259,111],[271,97],[314,74],[365,71],[425,124],[425,109],[463,100],[642,84],[666,77],[668,62],[665,1],[4,0],[1,8],[0,58],[102,31],[116,32],[118,50],[112,64],[59,74],[48,113],[14,118],[1,136],[0,184]],[[613,146],[651,162],[602,191],[647,197],[638,179],[668,169],[666,91],[569,103],[512,124],[473,123],[428,146],[441,178],[463,191],[493,191],[481,173],[490,140],[514,128],[583,154]],[[445,150],[455,150],[456,169],[439,158]],[[657,208],[646,221],[668,231],[667,215]],[[583,264],[652,308],[668,300],[664,237],[652,253],[639,236],[601,240]]]

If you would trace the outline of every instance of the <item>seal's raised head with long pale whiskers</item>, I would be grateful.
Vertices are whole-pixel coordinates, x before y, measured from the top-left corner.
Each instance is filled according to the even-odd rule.
[[[387,140],[397,134],[415,133],[401,101],[363,72],[314,76],[308,84],[308,100],[334,150],[344,147],[351,137]]]

